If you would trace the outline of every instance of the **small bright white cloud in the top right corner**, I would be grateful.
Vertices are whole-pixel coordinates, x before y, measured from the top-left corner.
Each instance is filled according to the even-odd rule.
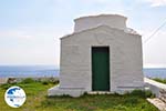
[[[166,6],[166,0],[145,0],[151,3],[152,7]]]

